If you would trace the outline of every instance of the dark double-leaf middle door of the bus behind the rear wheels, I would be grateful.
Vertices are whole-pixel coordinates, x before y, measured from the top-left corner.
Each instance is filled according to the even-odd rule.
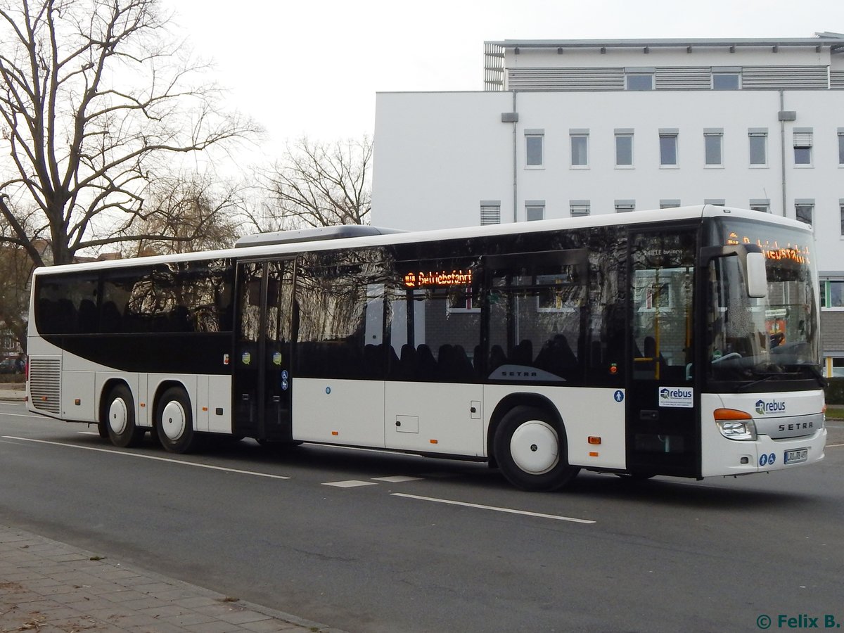
[[[291,439],[294,260],[237,266],[234,433]]]

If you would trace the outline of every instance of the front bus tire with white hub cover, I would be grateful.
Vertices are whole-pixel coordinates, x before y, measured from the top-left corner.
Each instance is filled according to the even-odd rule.
[[[501,473],[522,490],[557,490],[580,470],[568,463],[565,430],[543,408],[511,408],[495,431],[493,446]]]

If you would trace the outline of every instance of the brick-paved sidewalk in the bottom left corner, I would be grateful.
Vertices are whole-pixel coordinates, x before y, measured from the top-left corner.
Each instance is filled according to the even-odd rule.
[[[0,632],[331,629],[0,525]]]

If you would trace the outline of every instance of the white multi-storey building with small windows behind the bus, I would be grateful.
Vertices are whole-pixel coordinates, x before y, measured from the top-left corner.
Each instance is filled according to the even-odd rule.
[[[483,92],[377,95],[374,225],[699,203],[802,219],[844,375],[844,35],[484,46]]]

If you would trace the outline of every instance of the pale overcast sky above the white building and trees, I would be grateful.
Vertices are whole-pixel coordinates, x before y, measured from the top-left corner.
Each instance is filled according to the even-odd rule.
[[[162,0],[273,145],[360,138],[376,92],[483,89],[484,41],[811,37],[844,0]]]

